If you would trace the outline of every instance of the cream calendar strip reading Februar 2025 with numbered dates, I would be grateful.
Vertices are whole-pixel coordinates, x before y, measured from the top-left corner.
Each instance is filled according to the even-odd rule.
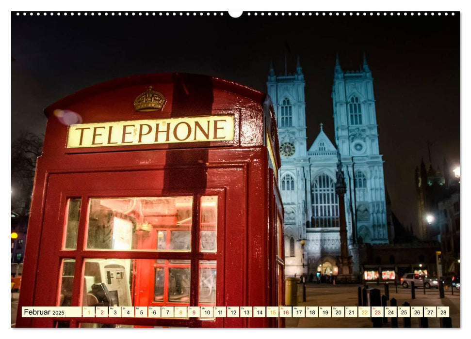
[[[24,318],[447,318],[448,306],[71,306],[25,307]]]

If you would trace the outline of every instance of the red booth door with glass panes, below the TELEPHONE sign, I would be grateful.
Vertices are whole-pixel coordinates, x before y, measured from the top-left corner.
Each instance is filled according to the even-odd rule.
[[[191,170],[173,174],[181,180],[171,185],[162,170],[50,175],[34,305],[115,306],[116,312],[122,306],[182,306],[174,314],[179,318],[151,318],[164,317],[164,308],[148,317],[119,317],[113,310],[109,317],[35,318],[32,326],[225,325],[224,318],[184,312],[186,306],[225,305],[225,265],[231,267],[226,278],[243,275],[235,259],[244,246],[226,263],[223,251],[226,220],[244,224],[238,222],[243,170],[208,170],[205,183],[192,180]],[[230,241],[243,242],[243,232],[230,229]],[[227,300],[242,301],[237,298]]]

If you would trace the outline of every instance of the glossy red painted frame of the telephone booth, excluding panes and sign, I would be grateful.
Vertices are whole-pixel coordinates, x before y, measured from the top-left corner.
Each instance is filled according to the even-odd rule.
[[[133,99],[148,85],[167,101],[159,112],[136,112]],[[231,143],[202,142],[129,147],[97,147],[70,153],[67,127],[52,114],[68,109],[83,123],[201,116],[235,112]],[[86,258],[186,259],[191,261],[190,303],[198,301],[198,262],[216,260],[217,306],[276,306],[284,300],[284,254],[277,253],[276,219],[282,221],[276,175],[278,140],[273,107],[267,96],[227,80],[188,75],[152,74],[128,77],[77,92],[45,110],[48,125],[43,155],[38,158],[25,252],[17,327],[52,327],[55,321],[133,324],[136,326],[276,327],[276,318],[23,318],[22,306],[56,306],[61,262],[75,258],[72,306],[80,306]],[[267,140],[276,164],[269,161]],[[90,152],[88,152],[90,151]],[[87,153],[88,152],[88,153]],[[86,249],[89,198],[194,196],[192,252]],[[218,196],[217,252],[199,251],[198,208],[202,195]],[[81,198],[76,250],[64,250],[68,198]],[[139,305],[135,305],[139,306]],[[150,305],[141,305],[150,306]]]

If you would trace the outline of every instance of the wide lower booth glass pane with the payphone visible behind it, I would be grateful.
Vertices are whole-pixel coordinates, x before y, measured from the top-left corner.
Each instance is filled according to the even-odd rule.
[[[84,266],[82,306],[190,306],[190,260],[94,258]]]

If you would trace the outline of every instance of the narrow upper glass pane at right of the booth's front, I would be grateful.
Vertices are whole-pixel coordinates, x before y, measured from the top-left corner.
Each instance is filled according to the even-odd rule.
[[[217,251],[217,196],[201,197],[200,250]]]

